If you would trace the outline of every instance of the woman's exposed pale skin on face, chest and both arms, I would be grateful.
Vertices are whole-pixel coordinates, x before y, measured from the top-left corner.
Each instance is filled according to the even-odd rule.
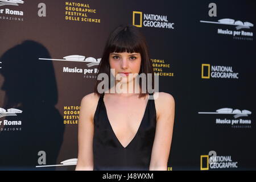
[[[110,68],[119,72],[139,73],[140,53],[110,53]],[[123,84],[131,84],[128,80]],[[118,81],[117,81],[118,82]],[[135,83],[135,86],[138,86]],[[175,100],[171,94],[156,93],[156,133],[152,147],[150,171],[166,171],[171,150],[175,117]],[[82,98],[79,115],[79,154],[76,171],[93,170],[93,117],[99,97],[90,93]],[[123,147],[126,147],[138,131],[147,104],[147,97],[138,98],[138,93],[105,93],[104,103],[111,126]],[[142,109],[143,108],[143,109]]]

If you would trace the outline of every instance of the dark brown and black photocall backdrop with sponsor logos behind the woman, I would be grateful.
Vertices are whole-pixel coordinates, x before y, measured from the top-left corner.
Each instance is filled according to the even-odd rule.
[[[0,0],[0,168],[74,170],[82,97],[120,24],[175,98],[168,170],[256,169],[254,1]],[[104,151],[102,151],[104,152]]]

